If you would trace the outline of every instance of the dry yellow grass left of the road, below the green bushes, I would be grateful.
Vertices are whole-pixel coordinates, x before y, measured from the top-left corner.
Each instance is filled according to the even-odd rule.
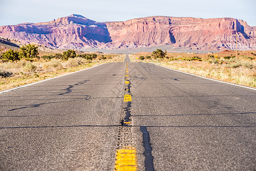
[[[101,63],[123,62],[125,55],[111,55],[112,59],[87,60],[83,58],[71,58],[66,61],[61,59],[39,60],[37,62],[0,63],[0,91],[53,78],[96,66]]]

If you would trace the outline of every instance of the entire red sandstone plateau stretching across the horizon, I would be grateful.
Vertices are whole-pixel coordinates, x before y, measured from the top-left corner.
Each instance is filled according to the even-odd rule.
[[[54,19],[46,23],[1,26],[0,36],[22,43],[38,43],[50,48],[87,50],[169,46],[207,50],[256,48],[256,27],[233,18],[146,17],[125,22],[95,22],[82,15]]]

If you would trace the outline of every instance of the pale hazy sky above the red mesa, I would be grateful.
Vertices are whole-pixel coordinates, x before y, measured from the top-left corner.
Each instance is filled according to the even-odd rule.
[[[242,19],[256,26],[255,0],[0,0],[0,26],[80,14],[97,22],[163,15]]]

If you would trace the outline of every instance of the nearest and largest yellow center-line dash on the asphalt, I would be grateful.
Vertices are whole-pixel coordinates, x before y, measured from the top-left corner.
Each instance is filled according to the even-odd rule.
[[[115,170],[137,170],[136,149],[133,146],[116,150]]]

